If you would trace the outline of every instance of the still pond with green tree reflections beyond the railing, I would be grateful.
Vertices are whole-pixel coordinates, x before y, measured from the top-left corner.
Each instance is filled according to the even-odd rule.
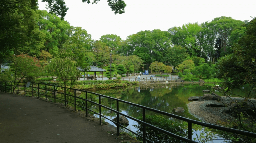
[[[120,100],[132,102],[149,108],[154,108],[164,112],[176,114],[185,118],[190,118],[198,120],[188,112],[187,104],[189,102],[188,98],[190,96],[203,96],[202,90],[205,90],[205,86],[199,86],[198,84],[158,84],[152,87],[130,87],[130,88],[120,88],[120,89],[107,89],[107,90],[94,90],[98,94],[103,94],[106,96],[111,96],[118,98]],[[249,87],[245,87],[244,90],[248,90]],[[244,91],[233,90],[234,93],[244,95]],[[214,93],[221,96],[221,93],[217,90],[214,90]],[[104,106],[111,107],[116,110],[116,101],[113,101],[108,98],[102,98],[101,102]],[[183,107],[184,112],[176,113],[173,111],[173,108]],[[127,104],[119,104],[119,110],[123,114],[132,116],[134,118],[142,114],[142,110],[136,106],[131,106]],[[116,117],[114,112],[109,110],[104,110],[102,108],[102,114],[107,116],[110,119]],[[155,113],[149,112],[146,110],[146,114],[154,115]],[[132,131],[136,131],[136,128],[133,125],[136,125],[137,122],[132,119],[129,120],[128,128]],[[172,119],[175,120],[175,119]],[[111,121],[107,122],[114,125]],[[179,121],[179,120],[175,120]]]

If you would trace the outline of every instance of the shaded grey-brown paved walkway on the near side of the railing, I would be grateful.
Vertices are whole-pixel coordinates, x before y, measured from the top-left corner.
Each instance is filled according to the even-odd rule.
[[[123,137],[122,137],[123,138]],[[0,143],[120,143],[99,123],[38,98],[0,93]]]

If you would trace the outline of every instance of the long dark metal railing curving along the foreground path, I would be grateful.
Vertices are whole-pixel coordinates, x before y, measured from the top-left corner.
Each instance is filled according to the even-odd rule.
[[[124,100],[120,100],[120,99],[117,99],[117,98],[112,98],[112,97],[105,96],[105,95],[102,95],[102,94],[97,94],[97,93],[94,93],[94,92],[89,92],[89,91],[79,90],[79,89],[74,89],[74,88],[68,88],[68,87],[62,87],[62,86],[56,86],[56,85],[50,85],[50,84],[35,83],[35,82],[31,82],[30,85],[28,85],[26,83],[28,83],[28,82],[1,82],[0,81],[0,92],[2,91],[2,92],[7,93],[7,92],[10,91],[12,93],[14,91],[17,91],[18,93],[20,93],[19,91],[21,91],[21,90],[19,90],[19,88],[20,87],[24,87],[23,92],[24,92],[24,95],[26,95],[26,93],[30,94],[30,91],[26,92],[26,89],[31,88],[31,96],[35,96],[34,94],[37,94],[38,98],[40,98],[40,95],[41,96],[45,96],[45,100],[47,100],[48,97],[49,98],[51,97],[51,98],[54,98],[54,102],[56,102],[56,99],[57,100],[62,100],[62,101],[65,102],[65,106],[66,106],[67,103],[73,104],[74,105],[74,110],[76,110],[77,106],[80,107],[80,108],[84,108],[86,110],[86,117],[88,117],[88,110],[93,112],[94,114],[99,115],[99,117],[100,117],[99,118],[100,119],[100,125],[102,124],[102,118],[108,119],[106,116],[102,115],[102,110],[101,110],[101,108],[106,108],[106,109],[108,109],[108,110],[110,110],[112,112],[115,112],[116,115],[117,115],[117,118],[119,118],[119,116],[122,115],[122,116],[125,116],[126,118],[130,118],[130,119],[133,119],[134,121],[142,123],[142,125],[143,125],[143,135],[139,135],[136,132],[131,131],[130,129],[124,127],[123,125],[120,125],[118,119],[117,119],[116,122],[112,121],[111,119],[108,119],[109,121],[112,121],[113,123],[115,123],[117,125],[117,128],[118,128],[117,129],[117,135],[118,136],[120,135],[120,131],[119,131],[120,127],[123,127],[124,129],[127,129],[128,131],[134,133],[135,135],[138,135],[139,137],[142,137],[143,143],[146,143],[146,141],[154,143],[154,142],[152,142],[152,141],[150,141],[149,139],[146,138],[146,126],[152,127],[153,129],[161,131],[161,132],[163,132],[163,133],[165,133],[167,135],[170,135],[170,136],[172,136],[174,138],[177,138],[177,139],[180,139],[182,141],[186,141],[186,142],[189,142],[189,143],[197,143],[196,141],[192,140],[192,123],[196,124],[196,125],[202,125],[204,127],[210,127],[210,128],[213,128],[213,129],[218,129],[218,130],[230,132],[230,133],[237,133],[237,134],[240,134],[240,135],[246,135],[248,137],[254,137],[254,138],[256,137],[256,133],[252,133],[252,132],[248,132],[248,131],[242,131],[242,130],[238,130],[238,129],[232,129],[232,128],[228,128],[228,127],[223,127],[223,126],[219,126],[219,125],[213,125],[213,124],[210,124],[210,123],[204,123],[204,122],[201,122],[201,121],[196,121],[196,120],[184,118],[184,117],[181,117],[181,116],[177,116],[177,115],[170,114],[170,113],[167,113],[167,112],[163,112],[163,111],[160,111],[160,110],[148,108],[148,107],[141,106],[141,105],[138,105],[138,104],[134,104],[134,103],[131,103],[131,102],[127,102],[127,101],[124,101]],[[14,88],[14,86],[16,86],[16,88]],[[53,86],[53,90],[47,89],[47,87],[51,87],[52,88],[52,86]],[[42,88],[42,87],[44,87],[44,88]],[[64,88],[64,92],[56,91],[56,87]],[[66,92],[67,89],[74,91],[74,92],[72,92],[72,93],[74,93],[74,95],[68,94]],[[37,91],[37,92],[35,92],[34,90]],[[40,93],[40,91],[41,91],[41,93]],[[86,98],[84,99],[84,98],[80,98],[80,97],[76,96],[76,91],[85,92]],[[52,92],[51,95],[52,94],[54,94],[54,95],[50,96],[49,95],[50,93],[47,94],[47,92]],[[56,97],[56,93],[63,94],[64,95],[64,99],[57,98]],[[94,94],[94,95],[98,96],[99,103],[96,103],[96,102],[93,102],[93,101],[89,100],[88,99],[88,94]],[[73,97],[74,101],[73,102],[68,101],[67,100],[67,96]],[[101,97],[109,98],[109,99],[112,99],[112,100],[116,100],[116,110],[102,105],[101,104],[101,100],[102,100]],[[78,99],[84,100],[86,102],[85,106],[76,104]],[[88,102],[90,102],[92,104],[95,104],[95,105],[98,105],[99,106],[99,113],[95,112],[94,110],[90,110],[88,108]],[[119,112],[119,104],[120,104],[120,102],[122,102],[124,104],[129,104],[129,105],[132,105],[132,106],[136,106],[136,107],[142,108],[142,120],[133,118],[132,116],[128,116],[126,114],[122,114],[121,112]],[[169,131],[166,131],[164,129],[160,129],[160,128],[154,126],[154,125],[146,123],[145,122],[146,110],[149,110],[149,111],[152,111],[152,112],[155,112],[155,113],[158,113],[158,114],[162,114],[162,115],[165,115],[165,116],[169,116],[169,117],[172,117],[172,118],[176,118],[176,119],[180,119],[182,121],[188,122],[188,138],[181,137],[179,135],[176,135],[175,133],[171,133]]]

